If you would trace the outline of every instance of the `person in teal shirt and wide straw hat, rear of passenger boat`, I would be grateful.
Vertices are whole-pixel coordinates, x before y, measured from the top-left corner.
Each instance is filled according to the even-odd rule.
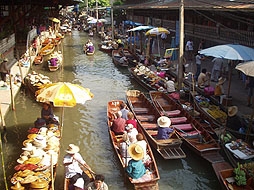
[[[128,148],[128,152],[132,159],[129,161],[125,170],[132,179],[139,179],[146,174],[146,169],[142,162],[144,151],[140,145],[132,144]]]

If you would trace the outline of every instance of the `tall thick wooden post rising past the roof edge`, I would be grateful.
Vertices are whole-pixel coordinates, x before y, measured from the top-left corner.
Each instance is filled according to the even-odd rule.
[[[178,64],[178,90],[182,88],[183,83],[183,46],[184,46],[184,0],[181,0],[180,10],[179,10],[179,64]]]

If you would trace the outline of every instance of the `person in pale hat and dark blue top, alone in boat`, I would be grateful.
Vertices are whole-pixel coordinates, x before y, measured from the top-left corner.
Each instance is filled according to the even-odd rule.
[[[174,129],[170,127],[171,120],[168,117],[165,116],[159,117],[157,120],[157,124],[158,124],[157,140],[169,139],[173,135]]]

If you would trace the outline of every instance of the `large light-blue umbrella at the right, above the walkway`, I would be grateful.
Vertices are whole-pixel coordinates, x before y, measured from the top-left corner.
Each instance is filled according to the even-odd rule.
[[[224,58],[229,60],[254,60],[254,49],[236,44],[218,45],[199,51],[205,56]]]

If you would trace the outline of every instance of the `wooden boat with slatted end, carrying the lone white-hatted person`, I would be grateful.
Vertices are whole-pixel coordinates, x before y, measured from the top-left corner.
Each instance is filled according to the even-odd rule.
[[[127,102],[139,125],[142,127],[149,143],[164,159],[179,159],[186,157],[181,149],[182,141],[177,134],[170,139],[157,140],[157,119],[160,114],[151,102],[137,90],[129,90],[126,93]]]

